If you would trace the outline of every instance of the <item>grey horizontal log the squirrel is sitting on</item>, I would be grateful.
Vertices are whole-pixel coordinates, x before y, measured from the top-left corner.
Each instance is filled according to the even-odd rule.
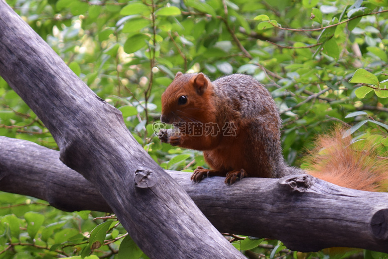
[[[58,151],[6,137],[0,137],[0,150],[0,190],[64,210],[111,211],[92,184],[58,160]],[[221,232],[280,239],[298,251],[342,246],[388,252],[388,193],[309,175],[245,178],[229,186],[223,177],[194,183],[190,173],[169,174]]]

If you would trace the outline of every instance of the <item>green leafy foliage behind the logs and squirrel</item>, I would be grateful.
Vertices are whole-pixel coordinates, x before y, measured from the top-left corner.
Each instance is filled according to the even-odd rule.
[[[205,164],[200,152],[161,144],[153,134],[160,96],[178,71],[212,79],[246,73],[266,84],[282,115],[290,164],[299,165],[314,137],[334,124],[349,126],[355,139],[373,139],[381,156],[388,151],[387,0],[7,2],[98,96],[122,111],[133,136],[163,168],[192,171]],[[0,135],[57,148],[1,78],[0,100]],[[147,258],[119,223],[106,221],[115,220],[110,215],[65,213],[8,193],[0,193],[0,209],[0,259]],[[230,237],[246,255],[324,257],[296,254],[278,241]]]

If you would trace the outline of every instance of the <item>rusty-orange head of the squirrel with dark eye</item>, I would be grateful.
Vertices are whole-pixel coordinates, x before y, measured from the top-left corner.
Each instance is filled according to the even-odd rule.
[[[211,106],[213,89],[203,74],[178,72],[162,94],[160,121],[168,124],[203,121]]]

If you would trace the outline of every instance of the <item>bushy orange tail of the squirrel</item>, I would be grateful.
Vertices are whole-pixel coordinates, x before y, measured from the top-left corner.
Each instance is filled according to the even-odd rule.
[[[317,139],[306,158],[309,174],[336,185],[363,191],[387,192],[388,158],[378,155],[371,141],[342,138],[343,130]]]

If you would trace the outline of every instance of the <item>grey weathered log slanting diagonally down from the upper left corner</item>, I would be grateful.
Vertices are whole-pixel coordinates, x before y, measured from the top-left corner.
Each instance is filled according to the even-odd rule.
[[[37,114],[60,159],[102,194],[151,258],[244,258],[90,90],[0,0],[0,75]],[[169,242],[166,242],[169,240]]]

